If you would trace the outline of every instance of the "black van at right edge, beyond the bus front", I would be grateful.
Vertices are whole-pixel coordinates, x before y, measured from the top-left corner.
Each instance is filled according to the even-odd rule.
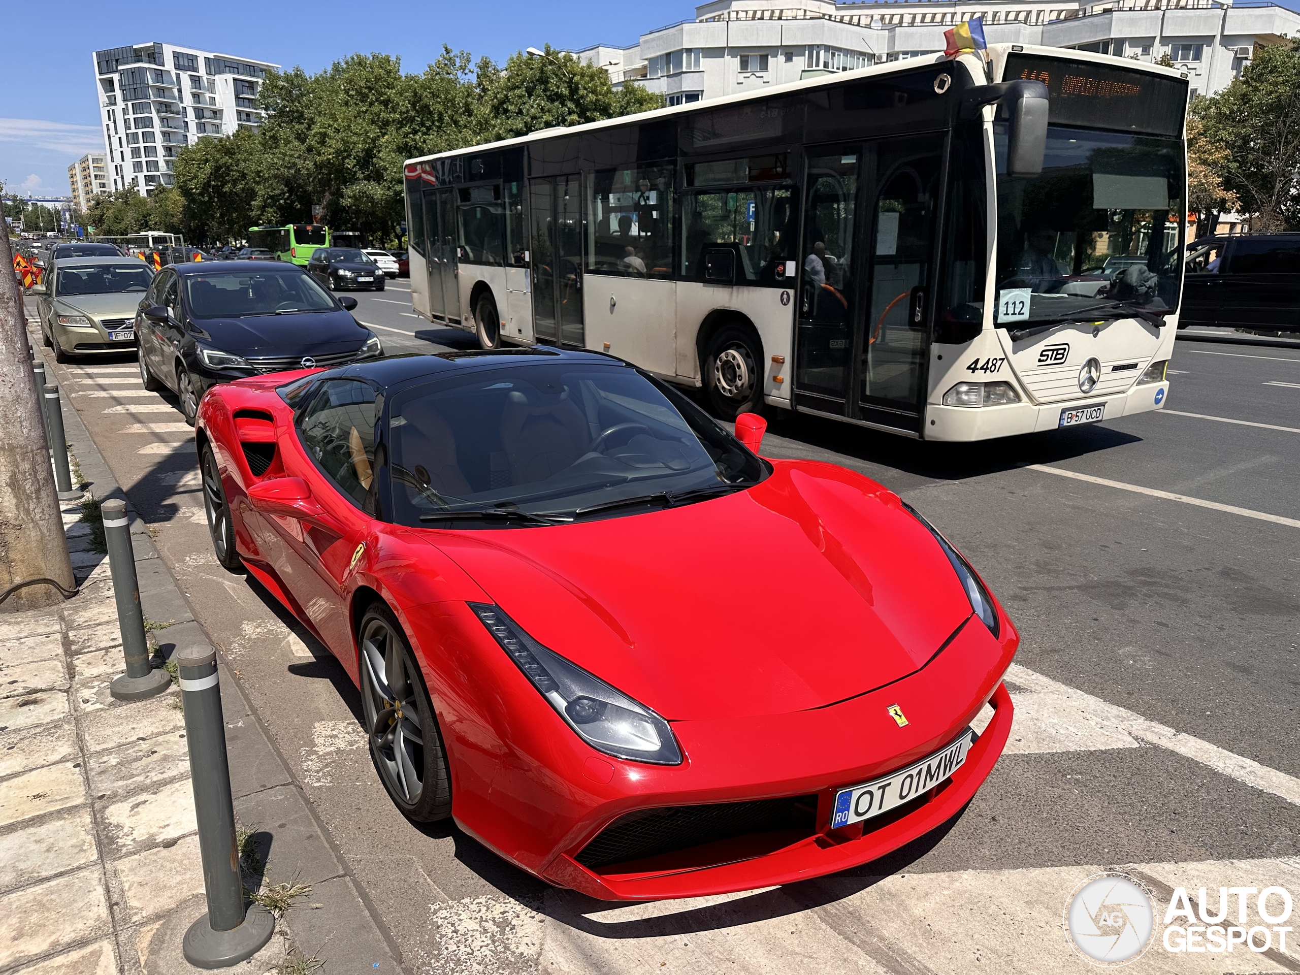
[[[1300,234],[1190,243],[1178,328],[1188,325],[1300,332]]]

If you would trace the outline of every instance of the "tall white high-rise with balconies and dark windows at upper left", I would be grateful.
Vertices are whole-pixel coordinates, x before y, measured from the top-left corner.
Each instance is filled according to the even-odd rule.
[[[95,95],[109,188],[172,186],[177,152],[204,135],[261,124],[257,95],[269,61],[157,42],[96,51]]]

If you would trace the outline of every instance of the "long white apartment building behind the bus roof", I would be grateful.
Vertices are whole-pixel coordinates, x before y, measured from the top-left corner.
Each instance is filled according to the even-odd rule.
[[[637,44],[575,52],[615,87],[636,81],[668,104],[846,72],[944,49],[944,31],[984,18],[991,44],[1046,44],[1141,61],[1169,55],[1193,92],[1216,94],[1261,44],[1300,34],[1300,14],[1231,0],[712,0],[696,20]]]

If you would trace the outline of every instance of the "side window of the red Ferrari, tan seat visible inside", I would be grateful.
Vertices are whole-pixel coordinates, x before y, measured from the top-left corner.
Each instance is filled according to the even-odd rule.
[[[374,512],[374,390],[356,380],[332,380],[303,412],[303,446],[338,489]]]

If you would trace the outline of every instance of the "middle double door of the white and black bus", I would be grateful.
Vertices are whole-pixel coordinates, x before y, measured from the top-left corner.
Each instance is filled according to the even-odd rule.
[[[582,207],[577,173],[528,182],[533,329],[541,342],[582,347]]]

